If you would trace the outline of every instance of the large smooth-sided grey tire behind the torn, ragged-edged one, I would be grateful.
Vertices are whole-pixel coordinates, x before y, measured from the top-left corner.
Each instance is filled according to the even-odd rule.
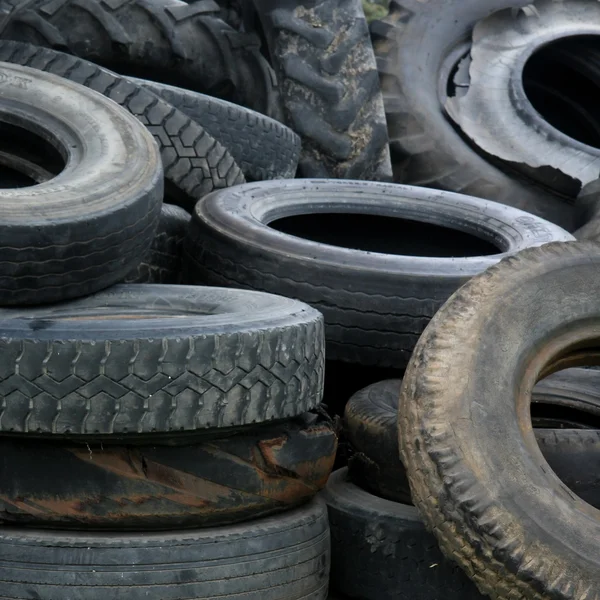
[[[480,156],[444,114],[440,88],[468,52],[481,19],[529,0],[394,0],[371,24],[390,135],[394,180],[494,200],[573,229],[573,199],[557,196]],[[573,195],[576,195],[573,190]]]

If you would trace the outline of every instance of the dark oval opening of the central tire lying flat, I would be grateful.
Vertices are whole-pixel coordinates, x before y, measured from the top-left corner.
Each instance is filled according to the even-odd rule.
[[[277,219],[269,227],[321,244],[382,254],[448,258],[502,252],[464,231],[380,215],[312,213]]]

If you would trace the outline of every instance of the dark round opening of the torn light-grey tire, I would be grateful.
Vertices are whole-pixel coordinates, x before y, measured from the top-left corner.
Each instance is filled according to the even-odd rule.
[[[544,46],[523,69],[535,110],[565,135],[600,148],[600,36],[573,36]]]

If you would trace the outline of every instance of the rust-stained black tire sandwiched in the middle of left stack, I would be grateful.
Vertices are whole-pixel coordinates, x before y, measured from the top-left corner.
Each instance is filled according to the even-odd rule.
[[[310,500],[336,448],[331,424],[310,413],[193,446],[3,438],[0,523],[148,530],[247,521]]]

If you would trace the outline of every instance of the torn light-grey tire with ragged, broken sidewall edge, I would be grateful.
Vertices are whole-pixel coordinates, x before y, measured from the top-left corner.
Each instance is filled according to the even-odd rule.
[[[598,23],[600,6],[585,0],[540,0],[535,11],[506,8],[483,19],[473,30],[468,86],[460,96],[448,98],[448,115],[487,155],[507,161],[516,169],[522,165],[525,174],[544,185],[557,185],[559,193],[568,193],[568,188],[561,185],[561,179],[567,178],[577,195],[583,186],[598,179],[600,148],[570,137],[536,110],[527,94],[526,65],[538,50],[558,40],[564,43],[574,35],[595,35],[600,40]],[[577,56],[582,50],[581,42],[575,40],[573,44],[571,38],[567,43],[570,46],[566,48],[572,47],[576,53],[574,60],[581,61]],[[572,62],[573,58],[566,49],[556,49],[554,54],[559,56],[552,57],[551,53],[552,49],[545,56],[548,67],[553,68],[546,77],[542,74],[542,82],[547,78],[560,86],[557,77],[561,63]],[[531,67],[539,79],[543,66],[538,62]],[[569,94],[568,89],[563,92]],[[590,135],[596,146],[600,145],[600,132],[591,135],[588,127],[581,133],[582,137]],[[557,182],[549,181],[549,169],[560,174]]]

